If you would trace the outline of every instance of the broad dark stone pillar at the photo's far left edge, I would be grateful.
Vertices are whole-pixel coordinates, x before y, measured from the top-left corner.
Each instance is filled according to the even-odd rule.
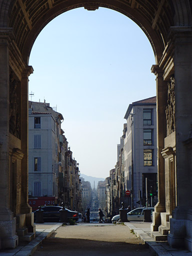
[[[9,177],[9,52],[10,28],[0,29],[0,240],[1,247],[14,248],[16,220],[10,210]]]

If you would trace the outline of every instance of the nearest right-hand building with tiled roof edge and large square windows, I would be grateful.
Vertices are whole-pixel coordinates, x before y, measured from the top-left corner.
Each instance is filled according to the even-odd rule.
[[[132,208],[157,198],[156,97],[129,104],[124,118],[124,183]],[[145,181],[147,178],[147,196]]]

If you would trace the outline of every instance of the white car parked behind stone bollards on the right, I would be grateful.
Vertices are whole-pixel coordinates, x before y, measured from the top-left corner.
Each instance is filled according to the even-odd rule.
[[[143,221],[144,219],[144,209],[146,209],[146,207],[140,207],[140,208],[136,208],[133,209],[129,212],[126,213],[127,215],[127,220],[129,221]],[[154,207],[147,207],[147,209],[151,210],[151,216],[152,216],[152,211],[154,211]],[[112,217],[112,223],[114,223],[115,221],[118,221],[120,218],[120,215],[115,215]]]

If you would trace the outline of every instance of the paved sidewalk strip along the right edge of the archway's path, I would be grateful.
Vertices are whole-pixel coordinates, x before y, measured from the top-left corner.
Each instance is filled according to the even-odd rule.
[[[124,222],[126,226],[134,231],[136,236],[148,244],[151,256],[192,256],[192,252],[186,249],[178,249],[170,247],[166,241],[154,241],[150,236],[151,222]]]

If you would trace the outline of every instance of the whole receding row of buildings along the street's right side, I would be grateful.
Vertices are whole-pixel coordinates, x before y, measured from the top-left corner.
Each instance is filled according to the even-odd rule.
[[[132,102],[124,118],[115,168],[106,178],[108,215],[118,214],[121,202],[125,208],[157,202],[156,97]]]

